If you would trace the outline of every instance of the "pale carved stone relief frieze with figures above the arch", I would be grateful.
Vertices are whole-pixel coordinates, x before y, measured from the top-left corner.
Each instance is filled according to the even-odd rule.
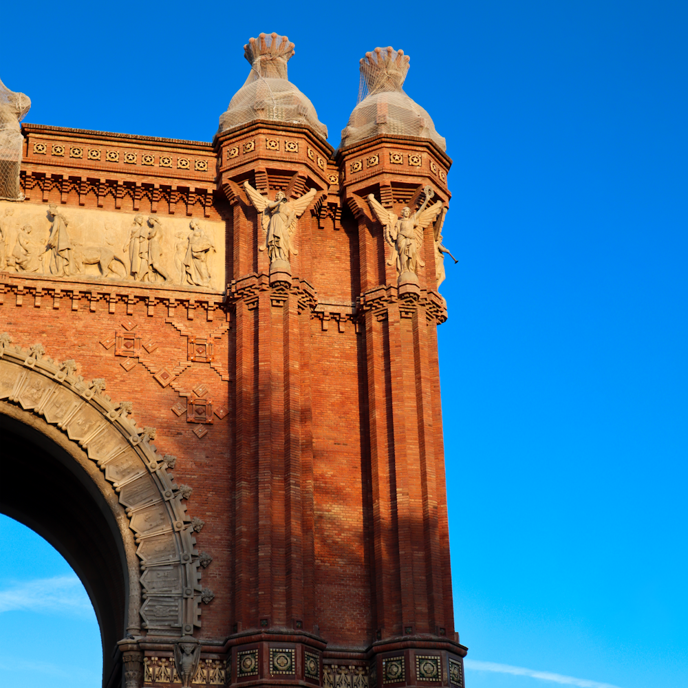
[[[0,269],[8,272],[210,289],[224,284],[222,222],[0,202],[0,227]]]

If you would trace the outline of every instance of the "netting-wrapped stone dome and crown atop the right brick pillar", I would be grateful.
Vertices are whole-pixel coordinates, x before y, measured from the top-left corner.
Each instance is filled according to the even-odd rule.
[[[447,142],[435,130],[432,118],[402,89],[409,61],[403,50],[393,47],[376,47],[361,59],[358,105],[342,131],[340,148],[388,133],[429,138],[442,151],[447,150]]]

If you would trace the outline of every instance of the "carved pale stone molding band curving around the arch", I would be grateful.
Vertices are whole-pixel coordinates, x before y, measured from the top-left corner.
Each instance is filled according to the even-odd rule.
[[[129,518],[138,545],[142,627],[149,636],[191,636],[200,627],[203,561],[194,533],[204,522],[186,513],[188,488],[175,483],[175,458],[158,453],[152,427],[129,419],[131,404],[114,403],[105,380],[86,382],[76,363],[44,356],[43,345],[27,349],[0,334],[0,400],[42,416],[78,443],[105,473]],[[209,600],[208,600],[209,601]]]

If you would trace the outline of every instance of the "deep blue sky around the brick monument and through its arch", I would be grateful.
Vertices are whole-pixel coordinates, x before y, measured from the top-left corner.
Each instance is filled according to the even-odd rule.
[[[687,685],[686,3],[117,7],[3,10],[0,77],[32,98],[28,121],[211,140],[242,46],[275,30],[336,147],[358,59],[411,56],[405,89],[454,160],[440,361],[467,684]],[[43,562],[26,576],[69,575],[1,525]],[[26,577],[3,567],[11,597]],[[98,674],[74,605],[1,613],[4,637],[55,647],[59,619],[82,625]]]

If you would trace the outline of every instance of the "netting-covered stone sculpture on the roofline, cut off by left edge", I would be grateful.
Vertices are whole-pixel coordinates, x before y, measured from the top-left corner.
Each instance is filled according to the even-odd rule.
[[[23,93],[14,93],[0,80],[0,199],[22,201],[19,184],[21,149],[24,138],[19,122],[31,107],[31,100]]]

